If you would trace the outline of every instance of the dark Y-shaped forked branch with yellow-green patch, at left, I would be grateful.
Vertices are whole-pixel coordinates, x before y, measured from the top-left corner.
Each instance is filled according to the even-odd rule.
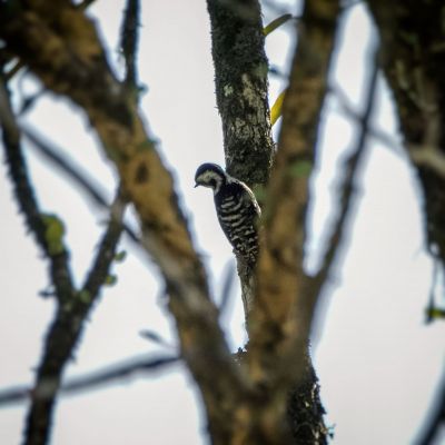
[[[27,417],[24,443],[44,444],[49,436],[55,397],[62,372],[72,355],[83,327],[83,322],[92,306],[115,255],[120,237],[120,220],[123,207],[117,199],[111,222],[103,236],[96,264],[89,275],[86,287],[77,294],[69,270],[68,253],[63,247],[62,222],[55,216],[41,215],[33,188],[28,178],[24,158],[20,146],[20,130],[12,113],[9,95],[3,82],[0,85],[1,122],[3,145],[10,175],[16,187],[16,196],[28,225],[36,235],[38,244],[50,260],[51,283],[57,297],[57,313],[47,334],[44,350],[38,367],[34,390],[51,382],[52,394],[44,400],[33,399]]]

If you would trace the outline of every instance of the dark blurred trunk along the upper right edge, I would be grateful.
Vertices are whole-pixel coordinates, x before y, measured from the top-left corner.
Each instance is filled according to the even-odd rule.
[[[445,6],[413,0],[368,4],[404,146],[424,196],[427,244],[445,265]]]

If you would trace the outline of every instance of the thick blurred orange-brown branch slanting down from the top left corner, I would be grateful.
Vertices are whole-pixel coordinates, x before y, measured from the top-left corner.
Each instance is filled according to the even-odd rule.
[[[247,384],[218,325],[218,310],[171,175],[138,116],[137,103],[108,66],[93,23],[68,2],[27,3],[13,13],[0,4],[0,38],[48,89],[67,96],[87,113],[139,216],[141,244],[162,273],[181,356],[209,416],[221,412],[235,416],[233,408],[239,406]],[[209,369],[216,369],[217,376]]]

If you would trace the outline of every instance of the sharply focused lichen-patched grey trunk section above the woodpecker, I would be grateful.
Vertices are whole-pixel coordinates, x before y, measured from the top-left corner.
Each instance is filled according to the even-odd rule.
[[[207,8],[227,171],[255,189],[274,157],[260,6],[207,0]]]

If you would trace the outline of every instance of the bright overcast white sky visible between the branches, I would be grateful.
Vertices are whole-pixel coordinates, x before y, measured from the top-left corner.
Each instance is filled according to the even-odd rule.
[[[91,8],[115,61],[121,11],[121,1],[98,0]],[[334,78],[359,109],[372,26],[362,6],[352,8],[343,23]],[[231,261],[230,247],[219,229],[211,195],[192,188],[198,165],[224,165],[205,1],[144,2],[141,24],[140,78],[149,88],[142,110],[160,140],[166,162],[175,170],[218,298],[224,271]],[[287,27],[267,39],[273,65],[286,62],[289,30]],[[28,82],[26,88],[36,87]],[[273,79],[271,101],[280,88]],[[66,101],[46,96],[27,122],[60,144],[111,196],[115,176],[110,164],[98,151],[85,118],[72,111]],[[382,80],[375,125],[396,137],[393,109]],[[342,167],[338,157],[354,141],[350,122],[330,100],[315,182],[317,202],[308,246],[312,263],[332,210],[335,177]],[[412,442],[431,404],[444,365],[445,326],[424,324],[432,261],[423,248],[415,175],[399,152],[375,142],[368,148],[357,214],[350,221],[352,237],[330,291],[324,297],[313,356],[327,422],[335,425],[334,443],[402,445]],[[68,243],[80,281],[107,215],[98,214],[88,199],[31,150],[28,154],[42,207],[69,221]],[[32,239],[24,237],[3,165],[0,181],[0,387],[6,387],[31,382],[53,305],[37,296],[48,285],[46,267]],[[140,337],[142,329],[159,333],[175,347],[156,269],[134,255],[115,269],[118,285],[105,291],[93,312],[76,362],[69,367],[70,376],[135,354],[162,350]],[[239,297],[224,320],[236,349],[245,339]],[[0,411],[1,443],[19,442],[24,408]],[[53,424],[52,444],[57,445],[206,443],[199,397],[181,366],[152,378],[65,397]]]

